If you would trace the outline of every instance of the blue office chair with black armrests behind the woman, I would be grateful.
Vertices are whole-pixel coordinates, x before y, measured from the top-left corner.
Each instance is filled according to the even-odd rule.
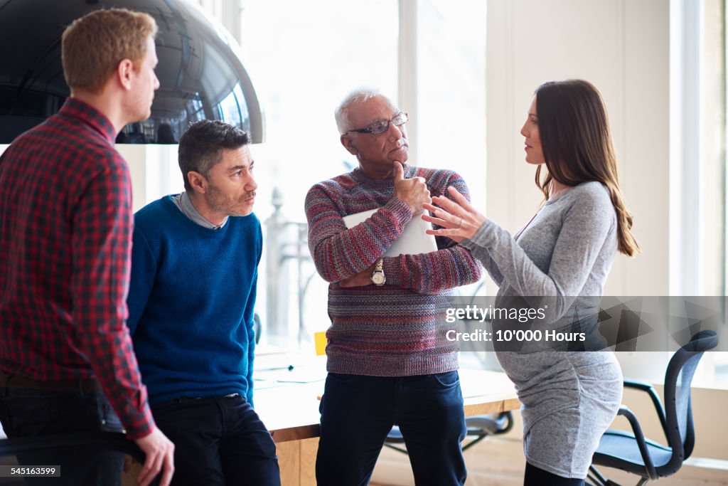
[[[702,331],[676,351],[665,372],[665,407],[652,385],[625,380],[625,387],[636,388],[649,394],[657,416],[662,424],[667,445],[645,439],[633,412],[622,405],[617,415],[629,420],[633,433],[609,429],[601,437],[594,453],[587,479],[596,486],[618,486],[604,478],[596,466],[622,469],[640,476],[637,486],[650,480],[675,474],[684,460],[692,454],[695,445],[695,428],[692,423],[690,382],[695,375],[703,352],[718,345],[718,336],[713,331]]]

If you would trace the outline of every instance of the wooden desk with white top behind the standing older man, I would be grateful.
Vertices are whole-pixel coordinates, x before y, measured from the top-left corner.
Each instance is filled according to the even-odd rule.
[[[325,376],[325,371],[322,372]],[[256,372],[256,377],[286,377],[285,372]],[[315,372],[312,373],[315,376]],[[291,376],[291,378],[295,378]],[[483,415],[518,409],[513,383],[502,372],[461,369],[465,415]],[[266,385],[271,385],[267,382]],[[277,446],[282,486],[315,486],[318,450],[319,399],[323,381],[281,383],[255,391],[256,411]]]

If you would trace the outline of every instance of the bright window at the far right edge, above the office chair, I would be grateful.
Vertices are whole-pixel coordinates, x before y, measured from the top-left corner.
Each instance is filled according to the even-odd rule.
[[[725,1],[673,0],[670,19],[670,294],[728,295]],[[695,383],[725,388],[728,353]]]

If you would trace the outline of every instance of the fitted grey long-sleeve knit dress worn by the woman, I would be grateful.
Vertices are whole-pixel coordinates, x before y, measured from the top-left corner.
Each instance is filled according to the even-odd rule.
[[[601,297],[617,253],[617,216],[602,184],[579,184],[547,201],[517,238],[488,221],[462,245],[499,284],[496,306],[519,301],[512,296],[526,301],[545,296],[550,309],[536,326],[582,326],[588,336],[585,349],[600,348],[598,332],[593,332],[594,297]],[[494,329],[499,324],[494,321]],[[496,346],[498,361],[523,403],[526,459],[553,474],[585,477],[599,437],[622,399],[622,373],[613,353],[562,352],[544,343],[504,350]],[[564,436],[569,439],[559,442]]]

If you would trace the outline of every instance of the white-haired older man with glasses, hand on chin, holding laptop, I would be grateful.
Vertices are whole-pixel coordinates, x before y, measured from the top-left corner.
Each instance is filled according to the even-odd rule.
[[[336,109],[341,144],[359,167],[306,197],[309,248],[331,283],[328,356],[316,463],[320,486],[365,485],[392,425],[405,439],[417,485],[462,485],[465,436],[457,349],[443,339],[439,302],[478,281],[470,251],[384,256],[434,195],[467,187],[453,171],[408,165],[407,114],[370,90]],[[347,229],[344,216],[375,210]]]

